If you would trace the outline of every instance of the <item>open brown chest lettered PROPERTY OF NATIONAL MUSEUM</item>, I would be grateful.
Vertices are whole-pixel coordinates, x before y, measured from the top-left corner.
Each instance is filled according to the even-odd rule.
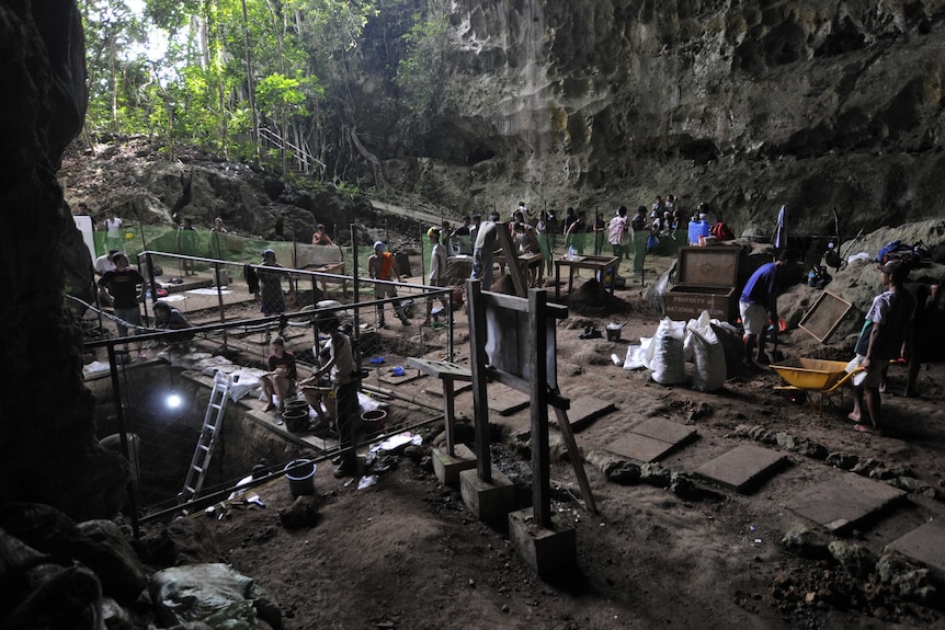
[[[713,245],[680,248],[676,285],[664,297],[665,316],[674,321],[709,317],[735,321],[739,317],[738,262],[741,248]]]

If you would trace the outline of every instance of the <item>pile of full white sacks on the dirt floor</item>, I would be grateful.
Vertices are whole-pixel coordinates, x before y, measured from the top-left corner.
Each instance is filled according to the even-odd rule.
[[[692,362],[693,389],[715,391],[730,371],[737,374],[741,343],[738,329],[710,319],[708,311],[688,322],[663,318],[652,337],[640,337],[640,345],[627,348],[624,369],[648,368],[661,385],[682,385],[688,380],[685,364]]]

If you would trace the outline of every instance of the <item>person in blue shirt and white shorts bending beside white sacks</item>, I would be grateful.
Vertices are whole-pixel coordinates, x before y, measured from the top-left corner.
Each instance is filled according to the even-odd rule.
[[[739,312],[747,335],[744,365],[751,369],[768,364],[764,336],[768,322],[774,323],[774,334],[777,334],[777,296],[787,288],[790,272],[796,270],[798,260],[796,251],[783,251],[777,261],[758,267],[741,291]]]

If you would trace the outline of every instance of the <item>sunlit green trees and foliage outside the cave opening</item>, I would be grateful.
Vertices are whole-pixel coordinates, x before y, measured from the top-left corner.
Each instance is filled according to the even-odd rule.
[[[307,144],[326,179],[356,181],[378,141],[424,133],[451,106],[446,0],[144,0],[140,13],[79,1],[92,137],[148,134],[170,154],[187,142],[286,168],[285,145],[254,146],[259,124]]]

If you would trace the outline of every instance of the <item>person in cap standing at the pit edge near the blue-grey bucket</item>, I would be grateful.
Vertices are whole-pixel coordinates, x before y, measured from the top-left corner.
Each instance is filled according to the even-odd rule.
[[[355,476],[358,473],[355,445],[361,433],[361,404],[357,401],[357,379],[351,339],[341,332],[341,322],[333,312],[318,313],[312,324],[316,328],[316,337],[318,333],[329,335],[326,343],[328,360],[298,385],[303,388],[314,387],[322,376],[329,376],[331,389],[334,392],[334,424],[338,429],[339,447],[342,450],[341,462],[334,469],[334,477],[340,479]]]

